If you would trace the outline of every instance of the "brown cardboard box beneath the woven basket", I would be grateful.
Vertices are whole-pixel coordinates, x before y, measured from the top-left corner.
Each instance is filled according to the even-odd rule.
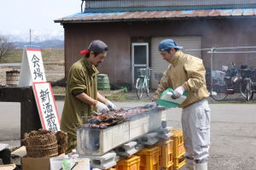
[[[21,165],[22,170],[49,170],[49,158],[50,157],[22,157]]]

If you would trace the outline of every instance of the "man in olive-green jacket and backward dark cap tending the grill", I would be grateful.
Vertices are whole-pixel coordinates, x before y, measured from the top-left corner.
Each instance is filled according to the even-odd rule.
[[[65,104],[61,116],[61,130],[67,133],[67,153],[77,146],[76,128],[83,123],[82,116],[93,111],[107,113],[116,110],[111,101],[97,92],[96,67],[107,57],[106,43],[95,40],[88,49],[81,51],[82,59],[75,62],[67,77]]]

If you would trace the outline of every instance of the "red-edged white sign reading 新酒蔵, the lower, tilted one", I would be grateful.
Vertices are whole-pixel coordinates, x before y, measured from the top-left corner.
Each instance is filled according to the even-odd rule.
[[[44,129],[60,130],[60,117],[49,82],[33,82],[33,92],[38,105],[38,113]]]

